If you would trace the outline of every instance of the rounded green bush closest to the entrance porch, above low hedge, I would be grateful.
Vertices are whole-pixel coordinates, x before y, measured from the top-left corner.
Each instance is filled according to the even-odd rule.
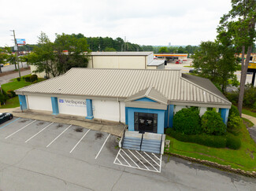
[[[202,132],[198,108],[183,108],[173,116],[173,127],[183,134]]]

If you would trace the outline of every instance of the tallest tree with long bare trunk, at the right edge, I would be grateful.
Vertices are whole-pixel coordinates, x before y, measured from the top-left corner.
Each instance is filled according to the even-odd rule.
[[[232,0],[232,9],[221,18],[218,33],[229,36],[229,40],[236,46],[237,52],[242,53],[242,73],[239,86],[238,109],[242,115],[243,94],[247,79],[247,69],[250,61],[250,53],[255,40],[256,1]],[[247,58],[245,58],[247,53]]]

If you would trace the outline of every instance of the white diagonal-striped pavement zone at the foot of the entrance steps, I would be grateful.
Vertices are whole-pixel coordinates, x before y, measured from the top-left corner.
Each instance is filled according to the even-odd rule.
[[[152,152],[119,149],[113,163],[123,167],[161,173],[161,154]]]

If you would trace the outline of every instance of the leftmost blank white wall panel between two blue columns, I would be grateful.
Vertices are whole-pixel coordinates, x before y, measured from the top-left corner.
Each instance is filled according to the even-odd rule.
[[[28,109],[53,111],[50,97],[28,95],[27,101]]]

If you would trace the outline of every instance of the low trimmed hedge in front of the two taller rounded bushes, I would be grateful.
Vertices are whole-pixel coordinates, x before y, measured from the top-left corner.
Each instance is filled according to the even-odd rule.
[[[171,137],[176,138],[178,141],[194,142],[198,145],[206,145],[214,148],[225,148],[226,138],[224,136],[208,135],[208,134],[182,134],[176,132],[172,128],[165,131]]]

